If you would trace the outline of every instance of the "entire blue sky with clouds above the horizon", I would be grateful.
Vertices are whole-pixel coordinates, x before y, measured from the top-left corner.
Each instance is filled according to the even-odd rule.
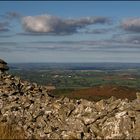
[[[140,1],[0,1],[0,58],[140,63]]]

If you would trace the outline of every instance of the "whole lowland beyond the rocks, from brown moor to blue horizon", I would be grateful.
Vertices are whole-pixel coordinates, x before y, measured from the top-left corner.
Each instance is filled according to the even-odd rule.
[[[138,64],[20,64],[14,65],[10,73],[40,85],[55,86],[51,92],[54,96],[134,99],[140,90]]]

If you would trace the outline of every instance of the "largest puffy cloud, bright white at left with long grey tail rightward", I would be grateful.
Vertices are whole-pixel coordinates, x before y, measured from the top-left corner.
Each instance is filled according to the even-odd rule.
[[[110,24],[107,17],[83,17],[79,19],[62,19],[52,15],[25,16],[22,25],[30,33],[73,34],[79,29],[92,24]]]

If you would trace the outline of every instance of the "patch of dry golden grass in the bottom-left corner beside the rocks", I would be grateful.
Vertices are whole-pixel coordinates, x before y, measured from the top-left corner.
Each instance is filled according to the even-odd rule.
[[[16,125],[0,123],[0,139],[25,139],[25,133]]]

